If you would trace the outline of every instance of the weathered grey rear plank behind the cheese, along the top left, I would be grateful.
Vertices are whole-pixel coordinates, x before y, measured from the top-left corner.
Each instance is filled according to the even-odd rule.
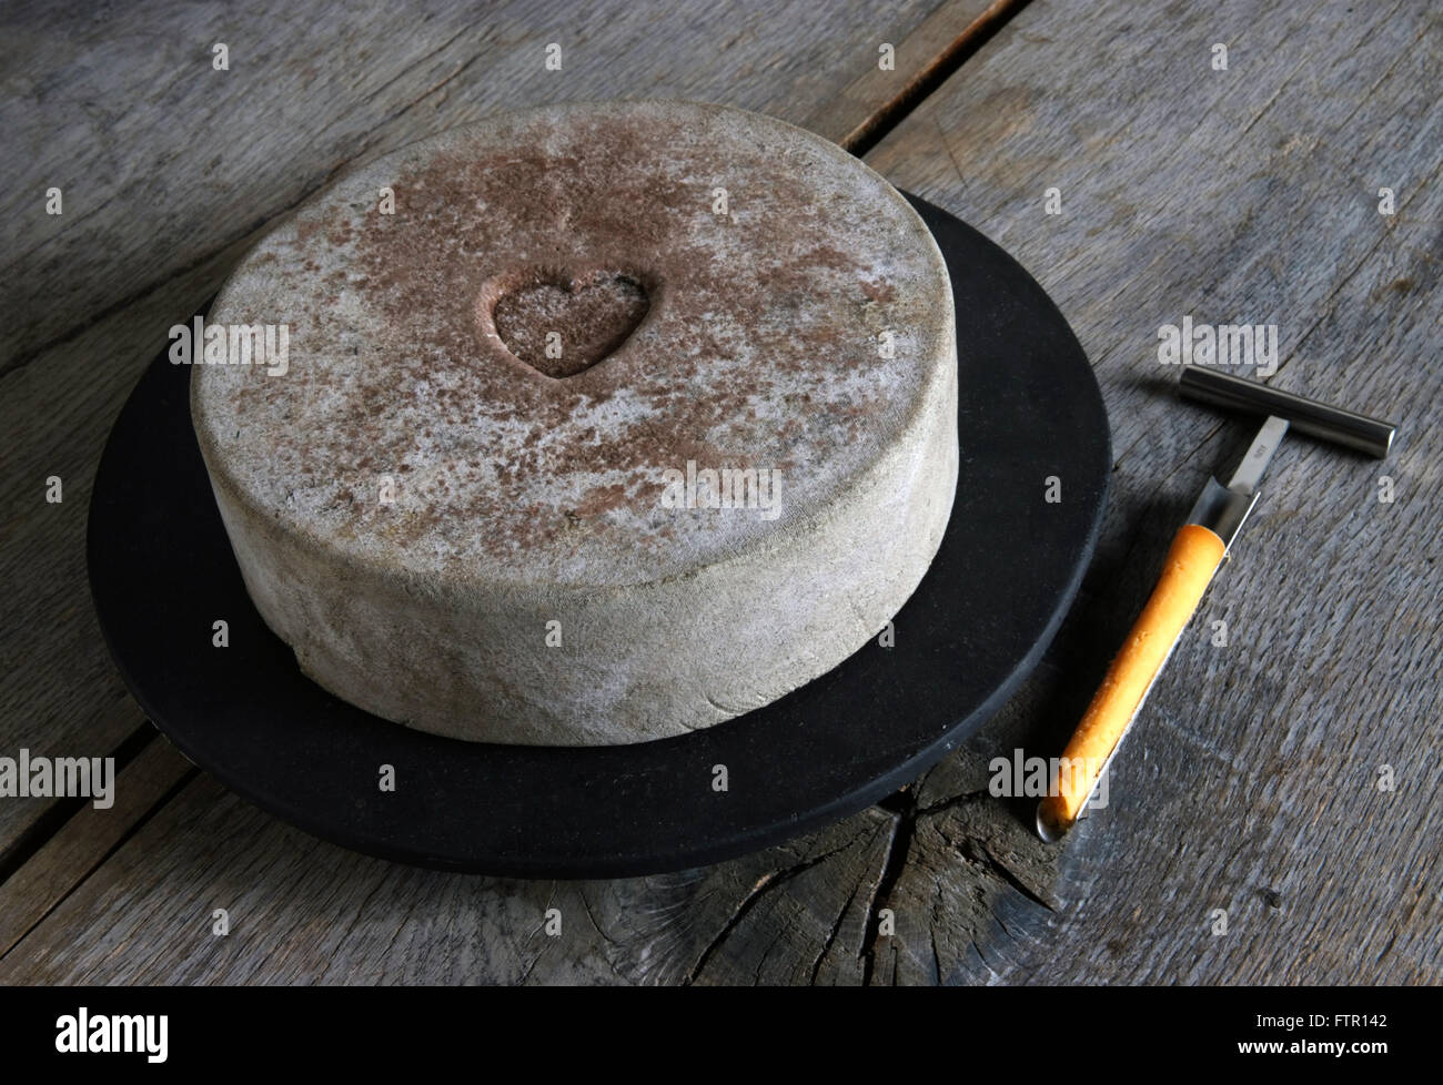
[[[498,107],[701,98],[804,123],[834,104],[833,120],[854,127],[908,71],[840,101],[838,92],[877,66],[882,33],[902,40],[929,7],[150,0],[100,17],[82,4],[6,9],[0,214],[14,234],[0,265],[10,313],[0,371],[247,237],[358,157]],[[212,66],[218,42],[228,71]],[[547,68],[551,43],[560,71]],[[63,215],[45,214],[51,186],[63,192]]]

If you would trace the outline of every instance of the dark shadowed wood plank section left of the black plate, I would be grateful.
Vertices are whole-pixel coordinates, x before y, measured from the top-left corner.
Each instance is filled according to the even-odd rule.
[[[203,291],[244,242],[172,280]],[[173,316],[165,291],[85,329],[43,366],[0,378],[0,750],[45,756],[104,756],[137,727],[130,698],[105,649],[85,571],[85,511],[105,436],[153,356],[154,329]],[[123,359],[126,364],[118,364]],[[13,442],[13,443],[12,443]],[[46,478],[63,501],[46,504]],[[51,807],[46,799],[0,802],[0,854]]]

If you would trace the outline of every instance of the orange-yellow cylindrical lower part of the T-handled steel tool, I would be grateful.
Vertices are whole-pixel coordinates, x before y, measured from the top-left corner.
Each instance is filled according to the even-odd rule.
[[[1038,805],[1039,820],[1052,830],[1065,831],[1076,821],[1102,766],[1143,707],[1147,690],[1202,602],[1224,550],[1222,540],[1198,524],[1185,524],[1177,532],[1157,587],[1062,752],[1055,794]]]

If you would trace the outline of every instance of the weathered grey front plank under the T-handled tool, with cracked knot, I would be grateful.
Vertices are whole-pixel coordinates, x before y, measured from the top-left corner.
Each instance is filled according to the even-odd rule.
[[[899,796],[704,871],[554,884],[352,856],[201,778],[0,957],[0,981],[1439,983],[1439,29],[1421,0],[1035,0],[869,156],[1048,287],[1117,457],[1052,652]],[[1384,465],[1284,444],[1110,805],[1046,848],[1030,802],[988,794],[988,762],[1062,749],[1196,491],[1251,437],[1176,400],[1156,332],[1185,315],[1277,323],[1273,382],[1394,416],[1400,440]],[[72,387],[95,377],[74,365]],[[232,934],[215,938],[222,906]]]

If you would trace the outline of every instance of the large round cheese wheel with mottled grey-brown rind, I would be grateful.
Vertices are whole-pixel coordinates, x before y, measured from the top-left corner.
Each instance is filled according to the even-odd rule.
[[[556,315],[528,287],[613,276],[645,316],[582,372],[496,332]],[[209,320],[290,329],[284,375],[192,381],[253,599],[312,677],[424,730],[635,742],[765,704],[877,632],[951,508],[941,254],[766,117],[563,105],[414,144],[270,234]],[[688,462],[776,472],[779,506],[668,508]]]

